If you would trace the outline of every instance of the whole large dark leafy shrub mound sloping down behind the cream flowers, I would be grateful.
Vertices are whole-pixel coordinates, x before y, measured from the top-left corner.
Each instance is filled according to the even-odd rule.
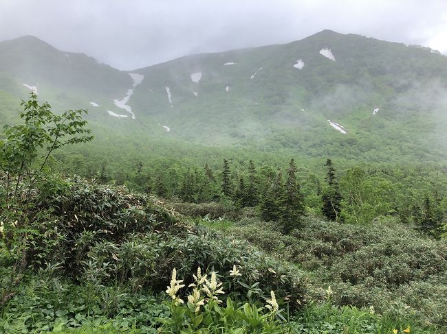
[[[51,329],[59,324],[54,314],[69,304],[59,300],[59,306],[54,307],[53,299],[57,296],[50,294],[52,288],[46,286],[60,283],[45,283],[45,289],[39,292],[39,299],[30,309],[43,315],[50,312],[49,318],[41,322],[26,318],[18,305],[28,305],[30,301],[27,300],[31,298],[21,291],[41,282],[39,278],[34,280],[33,271],[41,272],[48,279],[69,276],[79,289],[85,289],[85,296],[80,301],[85,302],[84,310],[87,311],[85,326],[107,326],[107,319],[116,314],[113,311],[116,307],[112,307],[110,313],[101,313],[109,308],[95,306],[99,302],[98,294],[114,288],[122,289],[126,294],[142,294],[149,289],[154,293],[164,291],[171,267],[179,268],[186,283],[193,282],[190,273],[197,266],[221,273],[219,278],[223,287],[232,291],[232,298],[257,303],[274,290],[279,296],[287,296],[290,309],[305,304],[304,279],[292,268],[266,257],[245,241],[189,226],[177,213],[163,207],[159,200],[80,178],[66,180],[63,187],[47,188],[45,193],[37,191],[32,199],[37,198],[39,202],[35,202],[32,210],[45,214],[36,215],[30,225],[35,232],[27,242],[27,271],[24,272],[27,280],[14,288],[14,296],[6,304],[11,312],[3,316],[6,328],[11,324],[7,319],[14,317],[17,319],[14,323],[23,320],[27,329],[41,326]],[[1,279],[8,279],[10,260],[7,252],[0,252],[0,261],[1,267],[6,269],[1,272]],[[224,274],[230,272],[235,263],[241,273],[237,285],[230,274]],[[73,298],[65,296],[67,289],[64,289],[54,288],[55,293],[59,291],[58,298]],[[118,295],[117,292],[116,300],[121,299]],[[43,311],[45,305],[53,307]],[[105,318],[99,320],[100,315]],[[82,317],[77,313],[71,316]],[[64,326],[82,324],[65,322]]]

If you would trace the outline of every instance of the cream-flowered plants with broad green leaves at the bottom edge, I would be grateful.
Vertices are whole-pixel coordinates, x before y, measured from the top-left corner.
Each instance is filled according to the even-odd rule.
[[[239,276],[237,266],[233,266],[230,272],[233,278]],[[171,310],[171,318],[160,319],[163,323],[162,331],[169,333],[284,333],[284,329],[276,319],[285,320],[281,315],[283,309],[279,309],[274,292],[271,299],[267,300],[265,307],[250,305],[248,302],[241,303],[239,307],[231,300],[225,298],[222,283],[217,280],[215,272],[207,274],[197,270],[194,275],[195,283],[193,292],[188,295],[186,305],[184,301],[176,296],[179,289],[184,287],[183,280],[177,280],[176,272],[173,270],[171,286],[166,293],[171,296],[172,301],[168,303]],[[233,287],[234,289],[234,287]],[[222,306],[223,298],[226,300]],[[265,310],[265,311],[264,311]],[[270,311],[267,311],[270,310]]]

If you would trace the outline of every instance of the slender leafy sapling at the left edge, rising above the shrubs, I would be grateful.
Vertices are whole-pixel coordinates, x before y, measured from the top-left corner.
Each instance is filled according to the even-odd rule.
[[[1,287],[0,305],[10,296],[19,283],[30,253],[37,250],[35,261],[39,262],[49,249],[39,253],[33,247],[36,239],[44,239],[46,231],[39,231],[34,223],[48,219],[47,211],[35,210],[36,187],[48,191],[48,185],[58,189],[62,184],[45,177],[43,169],[52,152],[65,145],[91,141],[87,121],[82,117],[86,110],[68,110],[55,115],[50,104],[39,105],[36,93],[30,93],[28,101],[22,101],[23,112],[19,113],[23,123],[4,126],[6,139],[0,140],[0,261],[10,267],[10,281]],[[44,148],[45,147],[45,148]],[[39,158],[43,149],[43,157]],[[50,220],[50,219],[49,219]],[[5,224],[5,223],[6,224]],[[4,225],[4,226],[3,226]],[[62,238],[61,238],[62,239]],[[51,241],[46,241],[50,244]],[[6,283],[5,280],[2,280]]]

